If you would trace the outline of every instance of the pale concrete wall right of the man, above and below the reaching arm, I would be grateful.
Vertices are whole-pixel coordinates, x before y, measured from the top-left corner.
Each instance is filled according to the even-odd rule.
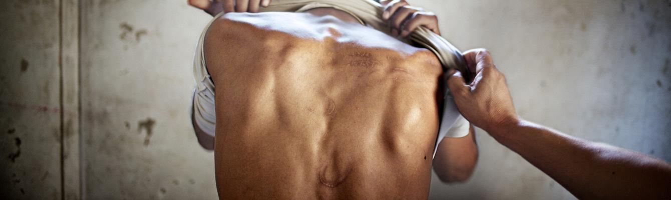
[[[443,36],[486,47],[517,112],[567,134],[671,161],[670,1],[429,1]],[[435,179],[431,199],[573,199],[477,130],[464,184]]]

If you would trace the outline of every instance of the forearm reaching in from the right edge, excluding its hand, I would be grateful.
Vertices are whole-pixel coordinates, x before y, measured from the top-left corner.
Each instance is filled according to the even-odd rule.
[[[664,161],[525,120],[488,132],[580,199],[671,198]]]

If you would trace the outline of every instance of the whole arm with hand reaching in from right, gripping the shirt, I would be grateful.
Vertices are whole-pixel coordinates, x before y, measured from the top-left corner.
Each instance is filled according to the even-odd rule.
[[[623,148],[568,136],[523,120],[484,49],[464,54],[476,72],[466,84],[450,72],[448,86],[464,117],[550,175],[579,199],[671,199],[671,166]]]

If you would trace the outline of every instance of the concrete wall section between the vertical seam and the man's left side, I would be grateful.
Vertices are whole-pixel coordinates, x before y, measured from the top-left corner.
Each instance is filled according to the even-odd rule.
[[[186,1],[82,1],[83,193],[215,199],[189,104],[204,13]]]

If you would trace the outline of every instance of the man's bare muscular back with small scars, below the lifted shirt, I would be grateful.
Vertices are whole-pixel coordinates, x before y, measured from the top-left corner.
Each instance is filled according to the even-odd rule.
[[[207,33],[223,199],[426,199],[442,69],[335,17],[229,13]]]

